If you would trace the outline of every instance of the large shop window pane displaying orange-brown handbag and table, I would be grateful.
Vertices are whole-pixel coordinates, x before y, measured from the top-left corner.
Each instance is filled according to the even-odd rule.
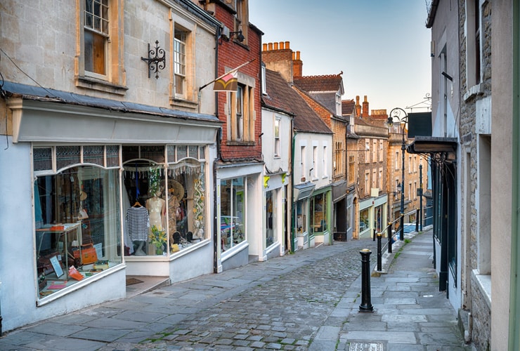
[[[77,149],[66,150],[77,157]],[[40,298],[121,263],[119,199],[117,168],[85,164],[37,176],[34,217]]]

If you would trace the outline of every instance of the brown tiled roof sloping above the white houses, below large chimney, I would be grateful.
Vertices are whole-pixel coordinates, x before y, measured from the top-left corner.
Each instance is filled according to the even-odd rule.
[[[325,122],[291,88],[280,73],[266,69],[266,92],[267,94],[262,96],[262,105],[292,114],[295,131],[332,134]]]

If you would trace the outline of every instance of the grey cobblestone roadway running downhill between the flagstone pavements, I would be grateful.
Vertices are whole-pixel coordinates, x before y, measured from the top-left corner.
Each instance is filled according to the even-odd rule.
[[[292,272],[195,312],[138,348],[307,350],[318,328],[360,274],[360,249],[369,247],[374,252],[370,246],[375,242],[353,240],[340,245],[344,251],[306,260]]]

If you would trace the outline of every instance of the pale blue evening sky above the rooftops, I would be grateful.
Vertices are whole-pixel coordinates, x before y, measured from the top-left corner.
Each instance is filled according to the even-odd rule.
[[[369,110],[386,113],[427,111],[427,16],[425,0],[249,0],[262,43],[290,41],[304,76],[343,71],[343,100],[367,95]]]

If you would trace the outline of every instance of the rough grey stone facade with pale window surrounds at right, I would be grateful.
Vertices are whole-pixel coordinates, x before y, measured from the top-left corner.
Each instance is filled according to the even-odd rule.
[[[460,138],[465,173],[460,178],[460,213],[461,234],[466,239],[462,242],[469,244],[463,263],[467,268],[461,277],[462,307],[472,314],[472,342],[486,350],[491,341],[491,4],[459,1],[459,13]]]

